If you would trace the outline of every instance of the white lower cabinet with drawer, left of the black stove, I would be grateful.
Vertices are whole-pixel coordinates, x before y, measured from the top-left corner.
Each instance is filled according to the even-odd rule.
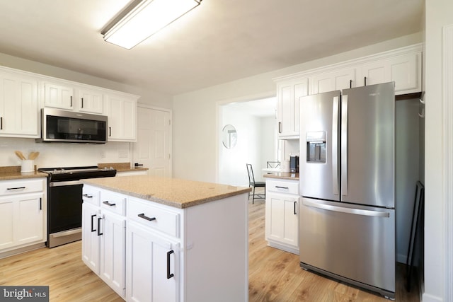
[[[47,240],[46,181],[0,181],[0,256]]]

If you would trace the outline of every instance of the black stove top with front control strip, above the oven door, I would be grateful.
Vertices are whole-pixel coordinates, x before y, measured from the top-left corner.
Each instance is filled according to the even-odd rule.
[[[98,168],[96,165],[85,167],[39,168],[38,171],[47,173],[49,182],[81,180],[83,178],[108,178],[116,175],[114,168]]]

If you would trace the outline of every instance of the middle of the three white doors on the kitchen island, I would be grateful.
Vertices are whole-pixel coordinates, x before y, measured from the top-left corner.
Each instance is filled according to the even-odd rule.
[[[125,298],[126,218],[103,211],[101,228],[101,279]]]

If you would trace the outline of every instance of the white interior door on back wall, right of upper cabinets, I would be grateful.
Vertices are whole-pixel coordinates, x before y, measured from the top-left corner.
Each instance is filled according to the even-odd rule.
[[[171,110],[138,105],[134,163],[149,168],[148,174],[171,177]]]

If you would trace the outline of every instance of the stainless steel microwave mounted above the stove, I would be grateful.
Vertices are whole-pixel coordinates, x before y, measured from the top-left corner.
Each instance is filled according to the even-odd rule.
[[[41,138],[36,141],[105,144],[107,116],[42,108]]]

